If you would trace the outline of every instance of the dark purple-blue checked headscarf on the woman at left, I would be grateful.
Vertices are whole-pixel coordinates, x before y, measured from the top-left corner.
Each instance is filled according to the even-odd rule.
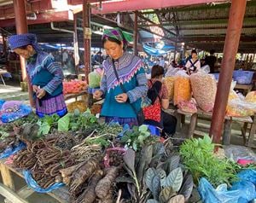
[[[32,47],[36,50],[36,52],[38,52],[41,49],[37,41],[38,40],[35,34],[27,33],[27,34],[12,35],[9,38],[8,42],[9,42],[9,47],[12,50],[31,44]]]

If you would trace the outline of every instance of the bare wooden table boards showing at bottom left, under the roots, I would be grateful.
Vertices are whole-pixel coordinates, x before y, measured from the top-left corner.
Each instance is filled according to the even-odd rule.
[[[3,179],[3,183],[0,183],[0,194],[7,199],[5,200],[5,203],[28,203],[26,198],[33,194],[35,191],[33,191],[32,188],[29,188],[28,186],[24,186],[18,191],[15,190],[15,181],[13,179],[13,175],[15,173],[18,176],[24,178],[22,172],[15,170],[10,165],[4,164],[4,159],[0,160],[0,171]],[[55,189],[47,194],[61,203],[70,202],[67,187]]]

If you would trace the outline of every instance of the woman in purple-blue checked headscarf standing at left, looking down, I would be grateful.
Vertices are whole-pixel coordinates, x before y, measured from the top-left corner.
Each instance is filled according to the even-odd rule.
[[[67,107],[62,93],[64,76],[54,57],[39,48],[37,37],[31,33],[11,36],[9,47],[26,59],[26,73],[34,92],[38,116],[54,113],[65,115]]]

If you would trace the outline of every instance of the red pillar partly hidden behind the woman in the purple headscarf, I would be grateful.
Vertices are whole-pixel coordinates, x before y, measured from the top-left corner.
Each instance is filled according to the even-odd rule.
[[[26,23],[26,5],[25,0],[14,0],[15,6],[15,26],[17,34],[27,33],[27,23]],[[26,77],[26,67],[25,67],[25,59],[20,56],[20,68],[21,68],[21,76],[22,81],[27,81],[28,85],[28,96],[29,101],[32,106],[34,106],[34,102],[32,99],[32,86],[30,85],[29,78]]]

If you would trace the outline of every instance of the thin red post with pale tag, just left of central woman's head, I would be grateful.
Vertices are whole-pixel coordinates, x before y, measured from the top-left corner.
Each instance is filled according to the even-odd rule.
[[[84,26],[84,73],[85,80],[88,83],[88,74],[90,73],[90,3],[83,0],[83,26]]]

